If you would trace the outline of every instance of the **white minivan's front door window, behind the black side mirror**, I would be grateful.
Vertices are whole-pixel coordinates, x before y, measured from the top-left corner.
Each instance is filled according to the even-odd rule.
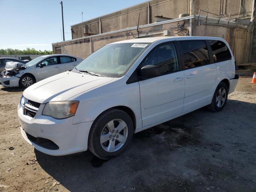
[[[144,59],[141,64],[158,66],[161,75],[177,71],[178,59],[173,43],[158,45]]]

